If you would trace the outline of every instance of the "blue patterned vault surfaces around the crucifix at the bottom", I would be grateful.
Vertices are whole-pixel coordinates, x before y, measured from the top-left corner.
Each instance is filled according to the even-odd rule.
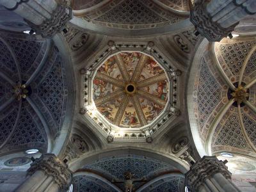
[[[106,180],[111,181],[118,189],[125,191],[124,182],[115,182],[115,180],[125,180],[125,173],[131,173],[133,182],[133,190],[136,191],[159,191],[160,189],[172,189],[171,191],[179,191],[180,186],[184,184],[184,179],[178,175],[170,175],[163,177],[154,182],[152,187],[151,180],[156,177],[162,177],[166,173],[177,172],[177,169],[170,164],[164,163],[151,157],[139,156],[134,154],[117,155],[104,157],[83,166],[81,171],[90,172],[100,175]],[[179,172],[179,171],[178,171]],[[149,184],[147,184],[150,182]],[[92,186],[90,188],[89,186]],[[142,186],[145,186],[142,188]],[[102,191],[116,191],[111,186],[102,182],[102,180],[90,177],[90,175],[77,175],[74,177],[75,191],[92,191],[92,189]],[[103,190],[104,191],[104,190]],[[160,190],[161,191],[161,190]]]

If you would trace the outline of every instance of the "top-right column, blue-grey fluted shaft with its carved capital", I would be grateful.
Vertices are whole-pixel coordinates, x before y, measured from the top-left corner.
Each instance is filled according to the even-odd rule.
[[[191,1],[192,2],[192,1]],[[211,42],[227,37],[240,20],[256,13],[255,0],[195,0],[190,20],[196,30]]]

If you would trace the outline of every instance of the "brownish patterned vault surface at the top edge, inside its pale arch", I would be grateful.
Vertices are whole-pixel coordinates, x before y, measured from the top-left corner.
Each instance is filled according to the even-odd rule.
[[[108,1],[77,1],[73,3],[74,15],[83,20],[107,28],[138,30],[170,26],[186,19],[177,15],[174,10],[187,11],[188,1],[152,1],[152,0],[121,0]],[[177,4],[176,4],[177,3]],[[90,12],[83,12],[89,8]]]

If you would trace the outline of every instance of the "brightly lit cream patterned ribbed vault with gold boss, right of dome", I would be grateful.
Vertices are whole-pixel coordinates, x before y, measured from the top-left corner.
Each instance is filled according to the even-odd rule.
[[[194,82],[198,132],[212,153],[256,154],[256,41],[216,42],[202,56]],[[210,146],[209,146],[210,145]]]

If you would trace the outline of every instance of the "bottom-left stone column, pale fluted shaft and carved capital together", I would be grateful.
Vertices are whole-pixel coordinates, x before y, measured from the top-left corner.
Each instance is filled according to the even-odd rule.
[[[54,154],[42,154],[31,163],[28,178],[16,192],[58,192],[65,190],[72,182],[72,172]]]

